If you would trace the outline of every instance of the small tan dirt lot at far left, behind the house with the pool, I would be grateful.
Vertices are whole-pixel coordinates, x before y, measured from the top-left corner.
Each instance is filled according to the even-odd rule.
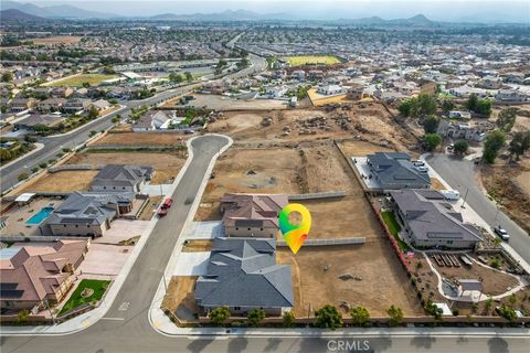
[[[65,170],[39,179],[29,184],[22,192],[74,192],[87,191],[97,170]]]

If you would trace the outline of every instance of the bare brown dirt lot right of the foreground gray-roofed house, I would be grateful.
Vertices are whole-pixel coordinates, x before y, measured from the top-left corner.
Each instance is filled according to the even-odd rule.
[[[295,314],[307,317],[326,303],[341,307],[365,307],[372,317],[385,317],[386,309],[398,306],[405,315],[422,314],[410,281],[384,238],[364,245],[303,247],[295,256],[282,248],[278,264],[292,265],[295,289]],[[377,270],[375,270],[377,269]],[[351,274],[357,279],[338,276]],[[342,313],[346,310],[341,307]]]

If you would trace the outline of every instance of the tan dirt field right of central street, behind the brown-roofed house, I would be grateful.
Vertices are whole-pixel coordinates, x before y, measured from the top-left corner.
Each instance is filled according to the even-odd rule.
[[[230,192],[298,193],[299,152],[286,148],[230,149],[215,163],[195,221],[220,220],[219,200]]]

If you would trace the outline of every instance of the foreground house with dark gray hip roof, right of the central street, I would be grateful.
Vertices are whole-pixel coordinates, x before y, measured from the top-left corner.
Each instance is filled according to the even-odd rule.
[[[204,313],[227,307],[234,315],[252,309],[280,315],[294,303],[290,266],[276,264],[275,239],[215,238],[206,274],[195,284],[194,299]]]

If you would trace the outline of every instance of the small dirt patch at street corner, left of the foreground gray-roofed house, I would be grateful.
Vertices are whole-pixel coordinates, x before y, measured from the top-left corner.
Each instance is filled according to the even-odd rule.
[[[197,277],[172,277],[162,307],[176,313],[181,320],[195,321],[193,314],[199,312],[193,299],[195,280]]]

